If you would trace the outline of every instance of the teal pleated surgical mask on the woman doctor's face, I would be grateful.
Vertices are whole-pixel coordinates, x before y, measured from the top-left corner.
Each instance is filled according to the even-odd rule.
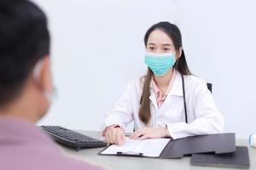
[[[145,63],[157,77],[164,76],[175,64],[174,54],[146,54]]]

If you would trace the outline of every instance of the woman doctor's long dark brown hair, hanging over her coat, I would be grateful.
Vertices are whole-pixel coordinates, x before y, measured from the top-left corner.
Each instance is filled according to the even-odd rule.
[[[171,39],[174,44],[175,50],[179,53],[179,49],[183,47],[182,44],[182,35],[177,26],[171,24],[169,22],[160,22],[151,26],[145,34],[144,37],[144,44],[147,48],[148,37],[154,30],[161,30],[164,31]],[[182,75],[191,75],[189,71],[189,66],[187,65],[187,61],[185,58],[184,50],[182,50],[181,56],[177,59],[174,68]],[[143,94],[140,100],[140,110],[139,110],[139,117],[144,124],[148,124],[151,118],[151,111],[150,111],[150,82],[151,77],[153,76],[153,72],[148,67],[148,73],[143,78]]]

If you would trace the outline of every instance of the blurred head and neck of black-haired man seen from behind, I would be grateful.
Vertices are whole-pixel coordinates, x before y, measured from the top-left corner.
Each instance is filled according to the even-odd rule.
[[[36,122],[52,92],[44,12],[26,0],[0,0],[0,116]]]

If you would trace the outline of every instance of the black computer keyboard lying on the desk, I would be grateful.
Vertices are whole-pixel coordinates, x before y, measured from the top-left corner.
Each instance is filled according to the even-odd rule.
[[[107,144],[101,140],[91,138],[81,133],[76,133],[65,127],[60,126],[42,126],[46,133],[49,133],[56,142],[76,148],[97,148],[104,147]]]

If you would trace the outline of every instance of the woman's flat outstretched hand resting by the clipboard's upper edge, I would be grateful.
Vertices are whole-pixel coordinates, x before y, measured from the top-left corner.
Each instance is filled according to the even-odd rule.
[[[130,139],[155,139],[167,136],[169,136],[169,133],[166,127],[144,127],[143,129],[139,129],[136,132],[132,133]]]

